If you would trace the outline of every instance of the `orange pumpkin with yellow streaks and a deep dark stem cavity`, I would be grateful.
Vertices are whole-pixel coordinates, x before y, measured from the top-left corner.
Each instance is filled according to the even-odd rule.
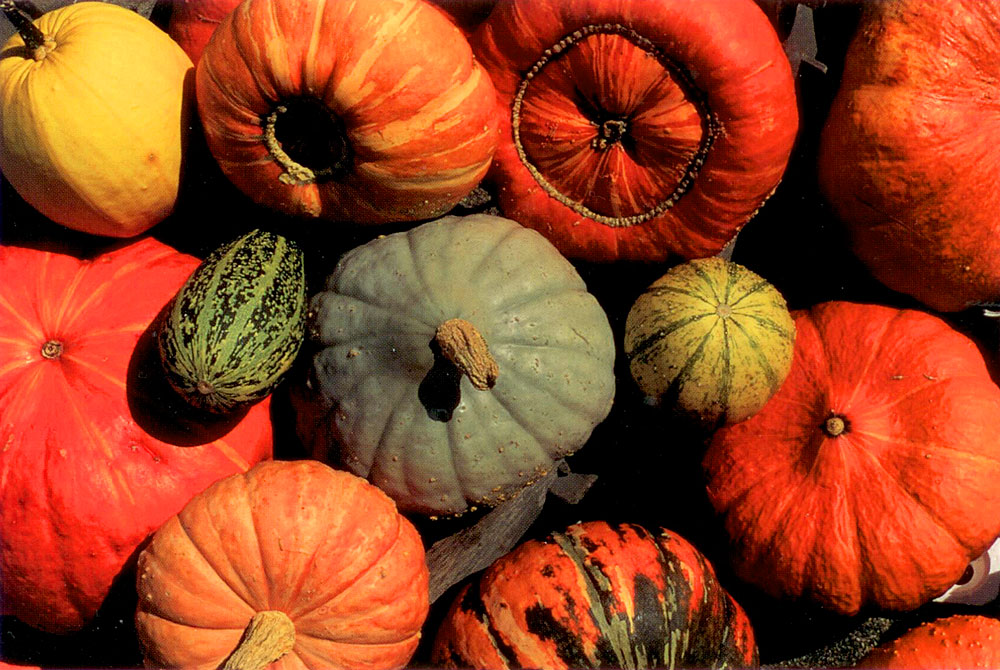
[[[222,171],[303,217],[439,216],[497,143],[489,76],[426,0],[245,2],[213,33],[196,83]]]

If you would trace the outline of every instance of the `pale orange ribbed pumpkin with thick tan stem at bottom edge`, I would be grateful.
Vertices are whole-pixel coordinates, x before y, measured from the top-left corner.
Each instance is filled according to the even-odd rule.
[[[261,463],[195,496],[140,554],[137,585],[157,668],[399,668],[428,610],[413,525],[312,460]]]

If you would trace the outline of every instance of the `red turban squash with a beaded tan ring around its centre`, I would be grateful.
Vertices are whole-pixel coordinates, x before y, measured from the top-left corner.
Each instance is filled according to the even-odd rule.
[[[500,208],[570,258],[714,255],[781,180],[795,87],[752,0],[513,0],[471,41]]]

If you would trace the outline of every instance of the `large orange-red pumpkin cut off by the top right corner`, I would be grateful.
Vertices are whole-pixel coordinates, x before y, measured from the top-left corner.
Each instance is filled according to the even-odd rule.
[[[1000,300],[996,3],[867,3],[823,128],[819,181],[854,254],[939,311]]]

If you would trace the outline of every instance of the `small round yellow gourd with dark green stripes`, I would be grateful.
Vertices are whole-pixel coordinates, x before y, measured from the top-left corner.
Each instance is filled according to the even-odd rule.
[[[764,406],[788,375],[794,342],[777,289],[718,257],[671,268],[625,321],[625,355],[642,392],[713,426]]]

